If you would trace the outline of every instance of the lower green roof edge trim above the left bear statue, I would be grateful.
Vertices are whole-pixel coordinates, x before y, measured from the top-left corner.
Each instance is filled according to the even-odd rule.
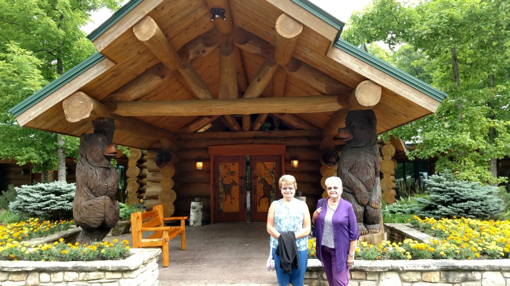
[[[82,74],[83,72],[85,72],[86,70],[88,70],[89,68],[91,68],[92,66],[94,66],[103,59],[105,59],[104,55],[98,52],[94,53],[80,64],[76,65],[63,75],[59,76],[54,81],[47,84],[44,88],[40,89],[35,94],[31,95],[30,97],[18,103],[13,108],[9,109],[9,112],[11,112],[14,117],[17,117],[25,110],[34,106],[37,102],[41,101],[48,95],[54,93],[56,90],[60,89],[64,84],[71,81],[73,78],[79,76],[80,74]]]

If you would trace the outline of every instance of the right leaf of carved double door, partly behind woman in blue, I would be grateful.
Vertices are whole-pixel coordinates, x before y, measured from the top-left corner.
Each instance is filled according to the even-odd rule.
[[[282,197],[278,179],[282,176],[282,157],[250,156],[251,221],[267,221],[267,211],[275,199]]]

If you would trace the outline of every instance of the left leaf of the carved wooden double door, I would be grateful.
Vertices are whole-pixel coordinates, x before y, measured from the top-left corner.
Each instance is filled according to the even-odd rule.
[[[218,222],[246,221],[245,158],[217,157],[214,162],[215,217]]]

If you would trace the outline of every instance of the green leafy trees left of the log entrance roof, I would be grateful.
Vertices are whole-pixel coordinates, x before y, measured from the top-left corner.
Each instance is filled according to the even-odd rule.
[[[120,0],[0,0],[0,157],[55,170],[57,135],[20,128],[8,110],[91,55],[80,30],[92,11],[117,9]],[[79,139],[63,150],[78,158]]]

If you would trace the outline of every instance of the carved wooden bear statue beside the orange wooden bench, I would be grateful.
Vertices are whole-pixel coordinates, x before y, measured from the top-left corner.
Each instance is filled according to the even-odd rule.
[[[113,130],[111,133],[113,137]],[[115,201],[119,174],[107,158],[116,153],[116,146],[105,134],[82,134],[73,205],[75,223],[82,227],[80,243],[103,240],[119,220],[119,203]]]

